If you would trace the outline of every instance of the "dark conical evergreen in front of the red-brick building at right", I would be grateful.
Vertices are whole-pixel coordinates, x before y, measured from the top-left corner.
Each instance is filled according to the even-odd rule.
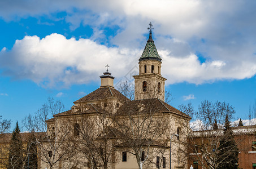
[[[236,169],[238,167],[238,153],[239,150],[236,146],[231,124],[229,122],[228,115],[226,115],[223,137],[220,139],[220,145],[218,148],[218,161],[220,162],[218,168]]]

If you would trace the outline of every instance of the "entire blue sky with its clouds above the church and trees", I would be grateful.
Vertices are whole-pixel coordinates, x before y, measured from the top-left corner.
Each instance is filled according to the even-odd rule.
[[[96,90],[110,65],[115,84],[137,71],[153,23],[171,105],[225,101],[248,119],[256,99],[255,1],[0,2],[0,115],[15,122],[47,97]]]

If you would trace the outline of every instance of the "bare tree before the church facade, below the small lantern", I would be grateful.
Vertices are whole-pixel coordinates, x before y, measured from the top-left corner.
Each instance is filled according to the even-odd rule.
[[[87,159],[87,166],[91,168],[108,168],[110,164],[116,162],[113,155],[117,141],[116,130],[112,127],[114,114],[109,113],[109,111],[114,112],[112,110],[114,105],[112,103],[105,105],[105,109],[102,109],[98,105],[87,104],[85,105],[87,111],[78,117],[79,152]]]

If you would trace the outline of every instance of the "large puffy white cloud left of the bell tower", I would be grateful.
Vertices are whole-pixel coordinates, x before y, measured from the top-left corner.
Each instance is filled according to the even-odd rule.
[[[43,87],[67,87],[99,82],[106,64],[114,77],[122,77],[137,64],[138,56],[131,56],[138,53],[55,33],[43,39],[25,36],[17,40],[11,51],[0,52],[0,66],[3,74],[15,79],[31,79]]]

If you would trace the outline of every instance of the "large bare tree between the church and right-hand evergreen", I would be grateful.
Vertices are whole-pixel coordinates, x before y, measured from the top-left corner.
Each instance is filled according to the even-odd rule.
[[[195,123],[190,126],[191,128],[186,128],[188,134],[186,148],[190,160],[206,168],[221,167],[222,163],[232,154],[232,150],[237,150],[229,148],[230,152],[225,153],[224,156],[218,155],[221,150],[219,147],[231,141],[224,139],[229,137],[223,134],[223,127],[225,119],[231,119],[235,113],[233,106],[225,102],[212,103],[205,100],[199,105],[198,111],[194,111],[191,104],[181,105],[179,108],[196,119]],[[216,124],[214,125],[215,122],[218,123],[218,130],[216,130]],[[237,143],[233,146],[237,146]]]

